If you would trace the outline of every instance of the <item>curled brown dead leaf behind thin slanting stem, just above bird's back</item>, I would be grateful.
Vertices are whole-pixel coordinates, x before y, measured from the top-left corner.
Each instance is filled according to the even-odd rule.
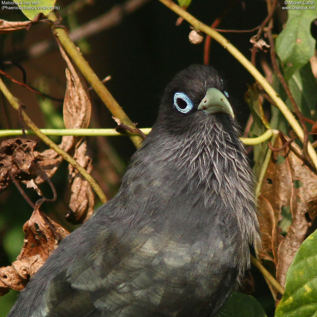
[[[87,144],[84,141],[76,148],[74,159],[90,173],[92,164],[91,159],[86,155],[86,149]],[[72,223],[82,223],[94,212],[94,193],[87,180],[72,165],[68,165],[68,172],[71,197],[69,202],[70,211],[66,218]]]

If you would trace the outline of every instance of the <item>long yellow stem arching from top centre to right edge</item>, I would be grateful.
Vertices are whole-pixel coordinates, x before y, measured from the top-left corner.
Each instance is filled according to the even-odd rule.
[[[275,92],[275,90],[271,87],[271,85],[266,81],[266,79],[262,76],[262,74],[252,65],[252,63],[238,50],[234,47],[226,38],[220,35],[214,29],[211,29],[208,25],[200,22],[190,13],[185,11],[184,9],[180,8],[177,4],[172,2],[171,0],[159,0],[163,3],[166,7],[174,11],[176,14],[184,18],[187,22],[189,22],[195,30],[200,30],[214,40],[216,40],[219,44],[223,46],[223,48],[227,49],[231,55],[233,55],[248,71],[249,73],[256,79],[256,81],[263,87],[263,89],[268,93],[271,99],[275,102],[276,106],[280,109],[281,113],[283,113],[284,117],[288,121],[288,123],[292,126],[295,133],[303,142],[304,139],[304,132],[299,123],[294,118],[291,111],[285,105],[283,100],[279,97],[279,95]],[[307,152],[312,159],[314,166],[317,170],[317,154],[311,145],[308,142],[307,145]]]

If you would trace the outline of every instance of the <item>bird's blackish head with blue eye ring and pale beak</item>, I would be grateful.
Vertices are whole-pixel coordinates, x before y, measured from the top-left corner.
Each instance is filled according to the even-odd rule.
[[[186,126],[209,121],[210,115],[222,121],[235,117],[217,71],[210,66],[192,65],[166,87],[157,122],[169,130],[186,130]]]

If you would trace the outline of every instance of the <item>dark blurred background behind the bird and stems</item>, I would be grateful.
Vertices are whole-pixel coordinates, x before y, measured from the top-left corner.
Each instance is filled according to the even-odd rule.
[[[76,4],[76,6],[75,6]],[[157,0],[57,0],[62,24],[76,39],[82,54],[100,79],[111,76],[105,85],[124,111],[138,127],[151,127],[157,115],[160,97],[166,84],[180,70],[194,63],[203,63],[204,41],[191,44],[188,35],[190,25],[183,21],[176,26],[178,16]],[[267,16],[266,2],[203,1],[193,0],[188,11],[202,22],[211,25],[222,17],[219,29],[254,29]],[[0,18],[8,21],[26,21],[19,10],[0,11]],[[88,28],[89,27],[89,28]],[[278,30],[279,32],[280,30]],[[250,33],[223,33],[248,59],[252,44]],[[10,91],[26,106],[26,112],[41,128],[62,128],[62,99],[65,93],[65,62],[54,43],[47,23],[32,25],[30,29],[0,35],[0,69],[16,80],[22,81],[21,71],[3,63],[21,64],[27,75],[27,83],[60,101],[38,95],[5,79]],[[227,80],[228,92],[236,100],[236,115],[242,128],[249,116],[244,102],[247,84],[254,82],[249,73],[225,49],[211,41],[210,65]],[[4,80],[4,78],[3,78]],[[116,124],[99,97],[91,92],[93,113],[90,127],[111,128]],[[18,116],[10,105],[0,99],[0,129],[20,128]],[[7,138],[0,138],[3,141]],[[28,136],[35,139],[34,136]],[[56,143],[61,138],[53,138]],[[113,197],[120,185],[126,164],[135,151],[131,141],[124,136],[87,138],[88,154],[93,159],[92,176],[108,198]],[[38,151],[46,148],[42,143]],[[52,181],[58,199],[43,204],[41,210],[68,230],[75,226],[65,220],[68,212],[69,189],[67,164],[62,163]],[[49,188],[43,188],[47,195]],[[27,192],[31,200],[36,194]],[[96,207],[100,205],[96,198]],[[23,245],[23,223],[32,208],[10,184],[0,193],[0,267],[16,260]],[[254,274],[255,279],[261,278]],[[263,283],[262,283],[263,285]],[[17,292],[10,291],[0,297],[0,317],[6,316]],[[274,301],[267,289],[256,289],[253,294],[261,302],[268,316],[274,310]],[[273,305],[273,306],[272,306]]]

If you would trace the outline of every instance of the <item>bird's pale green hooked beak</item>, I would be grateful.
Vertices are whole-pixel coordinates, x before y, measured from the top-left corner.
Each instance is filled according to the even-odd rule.
[[[235,117],[232,107],[226,96],[216,88],[209,88],[197,110],[204,110],[207,113],[224,112]]]

